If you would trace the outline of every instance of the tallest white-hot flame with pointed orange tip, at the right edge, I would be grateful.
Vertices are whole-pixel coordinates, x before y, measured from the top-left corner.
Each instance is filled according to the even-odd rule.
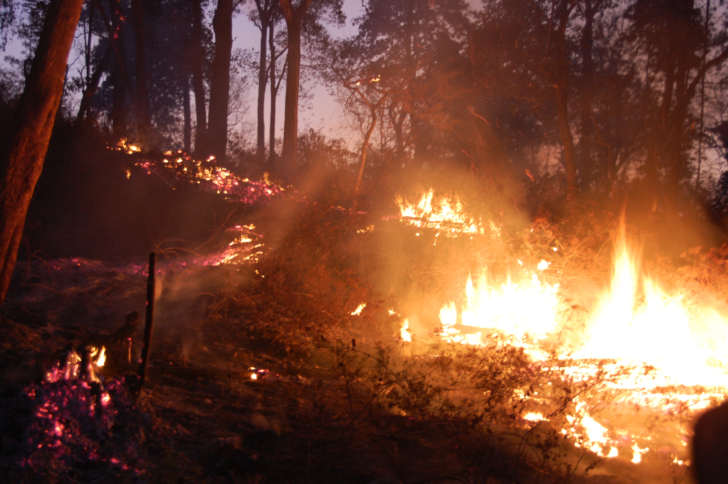
[[[644,294],[644,302],[638,300],[640,293]],[[695,334],[691,328],[691,312],[698,308],[690,306],[694,305],[685,301],[684,295],[670,295],[648,275],[640,273],[638,252],[628,247],[622,226],[615,250],[612,285],[601,297],[585,344],[574,357],[612,358],[651,365],[657,368],[659,378],[654,386],[728,386],[724,370],[715,364],[726,359],[715,346],[716,337],[717,341],[725,338],[722,334]],[[711,329],[718,329],[715,323],[720,325],[722,318],[716,312],[707,313],[713,320],[707,324],[711,333]],[[700,340],[713,340],[713,347],[701,346]],[[637,379],[633,383],[640,386]]]

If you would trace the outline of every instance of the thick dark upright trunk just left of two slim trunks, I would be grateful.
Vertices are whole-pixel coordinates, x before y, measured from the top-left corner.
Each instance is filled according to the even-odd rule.
[[[218,0],[213,17],[215,57],[210,76],[210,111],[207,116],[207,151],[223,161],[227,148],[227,116],[230,99],[232,55],[232,0]]]

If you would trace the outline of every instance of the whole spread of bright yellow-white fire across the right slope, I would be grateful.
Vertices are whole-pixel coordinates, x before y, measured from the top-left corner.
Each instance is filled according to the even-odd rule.
[[[417,209],[398,202],[402,220],[417,227],[438,230],[443,220],[470,220],[459,213],[462,206],[453,209],[446,199],[441,207],[433,204],[432,191]],[[451,236],[474,233],[462,222],[461,228],[451,229]],[[491,282],[487,271],[476,282],[468,277],[462,302],[450,301],[440,309],[441,328],[436,331],[452,343],[520,347],[550,380],[587,382],[600,375],[604,381],[597,392],[574,397],[561,433],[604,458],[628,457],[639,463],[657,445],[674,463],[684,464],[689,461],[686,428],[665,426],[656,435],[654,429],[630,424],[625,415],[646,411],[666,418],[687,416],[724,398],[728,321],[716,309],[667,293],[644,273],[638,247],[628,241],[623,222],[614,238],[612,280],[585,321],[569,320],[573,302],[563,299],[558,282],[539,279],[544,271],[557,272],[548,269],[547,261],[529,270],[518,260],[521,271],[507,274],[502,284]],[[558,274],[549,279],[558,280]],[[412,340],[408,331],[405,320],[403,341]],[[558,406],[550,399],[551,385],[548,381],[523,397],[531,402],[523,420],[549,420]]]

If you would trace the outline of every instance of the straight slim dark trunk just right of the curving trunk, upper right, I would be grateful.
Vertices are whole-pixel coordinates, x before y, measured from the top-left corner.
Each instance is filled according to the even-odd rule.
[[[579,175],[582,191],[590,191],[592,183],[593,160],[592,142],[593,122],[591,119],[591,91],[594,82],[594,60],[592,58],[593,46],[593,23],[595,9],[592,0],[584,1],[584,29],[582,31],[581,54],[582,54],[582,79],[581,92],[579,92],[581,104],[581,136],[579,137]],[[612,188],[610,187],[610,191]]]

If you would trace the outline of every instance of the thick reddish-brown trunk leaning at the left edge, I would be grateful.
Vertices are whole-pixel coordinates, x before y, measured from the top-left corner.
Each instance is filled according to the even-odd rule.
[[[50,1],[31,72],[10,124],[0,179],[0,301],[10,285],[25,215],[43,168],[82,4],[83,0]]]

